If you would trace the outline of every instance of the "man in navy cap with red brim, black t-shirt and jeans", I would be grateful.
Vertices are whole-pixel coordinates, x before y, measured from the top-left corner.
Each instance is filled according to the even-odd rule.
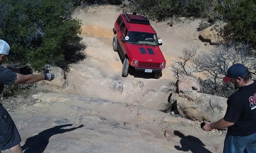
[[[251,72],[242,64],[234,64],[223,81],[231,81],[238,90],[227,99],[224,118],[214,123],[204,121],[202,129],[227,128],[223,153],[256,153],[256,83]]]

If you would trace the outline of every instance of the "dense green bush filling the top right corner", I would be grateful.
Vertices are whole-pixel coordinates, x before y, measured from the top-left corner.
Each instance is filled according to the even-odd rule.
[[[224,0],[216,9],[235,39],[256,43],[256,1]]]

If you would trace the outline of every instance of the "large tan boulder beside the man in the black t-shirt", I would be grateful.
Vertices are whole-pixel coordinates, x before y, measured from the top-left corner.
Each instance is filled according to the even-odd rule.
[[[226,113],[227,98],[201,93],[198,81],[189,76],[178,78],[170,99],[180,115],[188,119],[215,122]]]

